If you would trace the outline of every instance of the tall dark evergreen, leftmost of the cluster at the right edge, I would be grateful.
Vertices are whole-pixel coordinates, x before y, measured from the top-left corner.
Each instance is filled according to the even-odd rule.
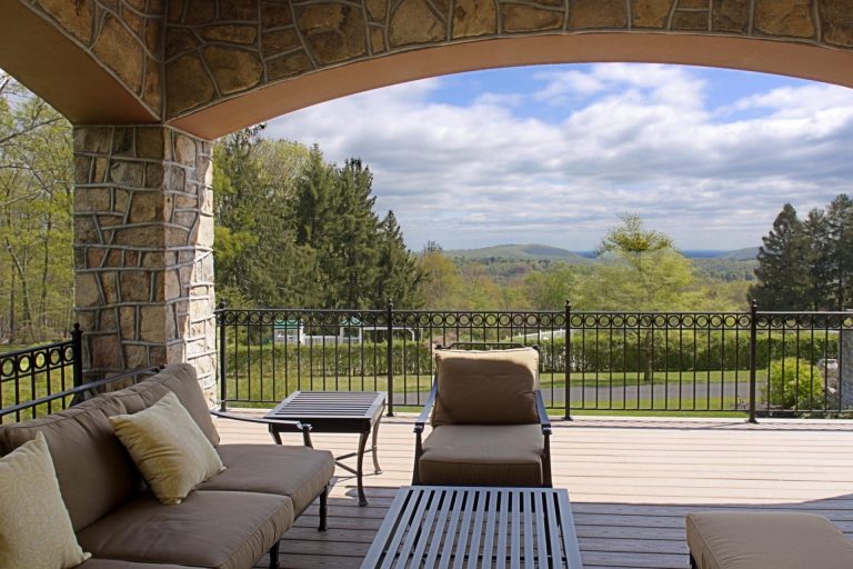
[[[764,310],[812,308],[814,251],[793,206],[785,203],[762,241],[755,269],[759,282],[750,288],[750,296]]]

